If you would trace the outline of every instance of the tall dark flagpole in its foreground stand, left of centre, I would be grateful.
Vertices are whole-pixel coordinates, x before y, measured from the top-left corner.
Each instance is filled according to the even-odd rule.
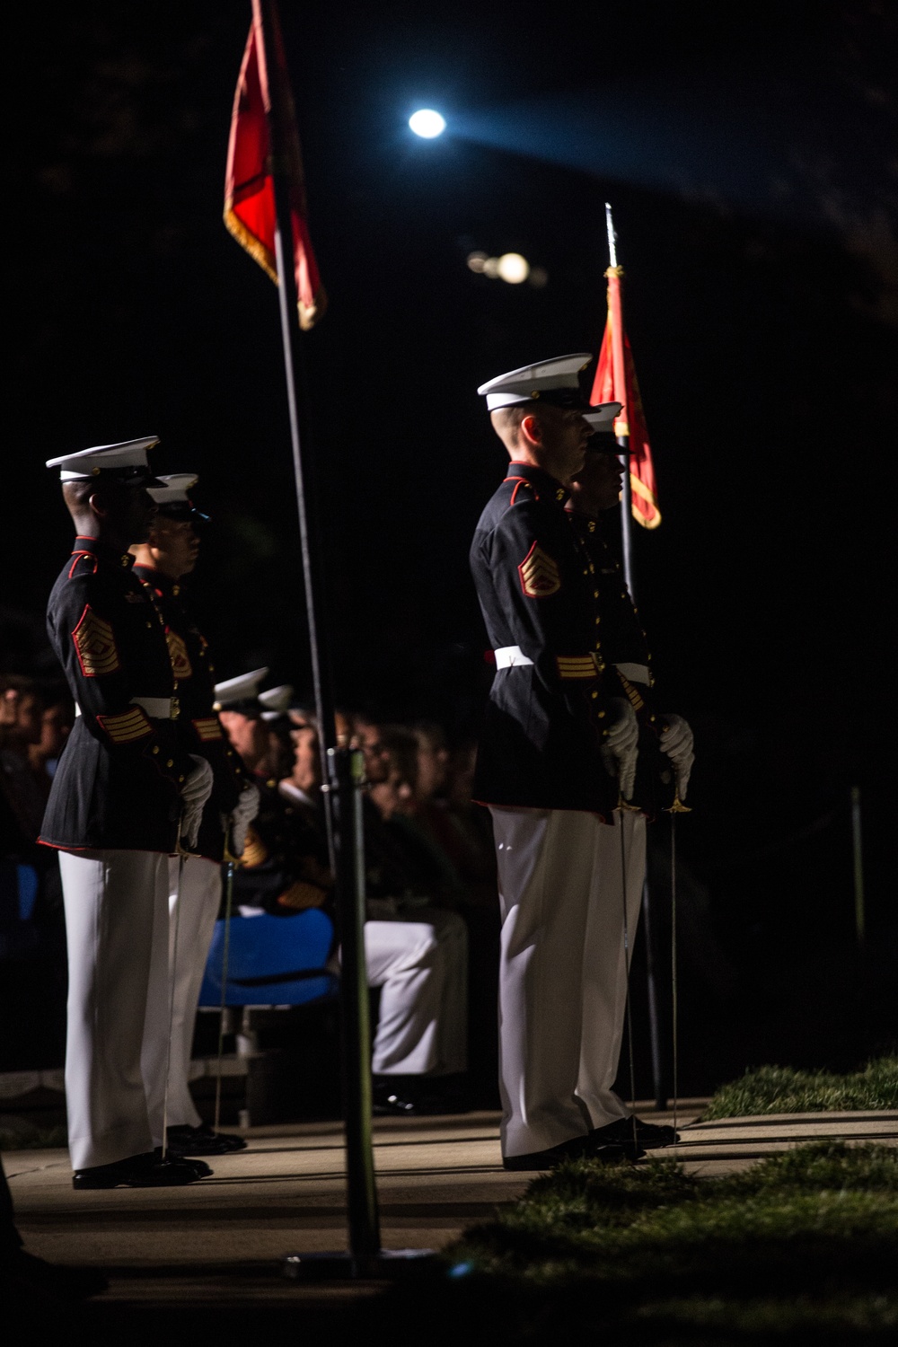
[[[365,862],[361,827],[361,754],[337,746],[334,702],[327,659],[327,628],[322,616],[320,547],[315,515],[312,458],[304,416],[307,407],[300,348],[293,233],[289,197],[288,156],[284,128],[279,117],[276,89],[277,53],[273,0],[253,0],[256,32],[263,40],[268,73],[268,133],[271,172],[275,187],[275,256],[279,277],[280,326],[287,377],[289,435],[296,480],[296,509],[306,586],[308,645],[319,719],[322,754],[326,766],[326,803],[333,824],[337,912],[341,936],[341,1026],[342,1078],[346,1127],[346,1204],[349,1218],[350,1276],[370,1276],[381,1253],[374,1154],[372,1141],[372,1075],[369,1059],[369,1004],[365,970]],[[292,1255],[285,1270],[291,1276],[310,1272],[307,1259]],[[302,1269],[302,1270],[300,1270]],[[320,1261],[319,1269],[320,1270]]]

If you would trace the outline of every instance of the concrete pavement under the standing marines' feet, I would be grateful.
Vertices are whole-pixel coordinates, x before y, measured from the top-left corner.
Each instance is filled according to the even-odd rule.
[[[898,1145],[898,1111],[792,1114],[699,1122],[704,1100],[684,1100],[681,1142],[664,1154],[687,1171],[722,1175],[821,1137]],[[638,1106],[642,1117],[670,1121]],[[250,1149],[214,1160],[214,1176],[187,1188],[75,1192],[65,1150],[4,1156],[27,1247],[54,1262],[109,1269],[97,1303],[164,1309],[320,1300],[315,1288],[280,1278],[287,1253],[346,1245],[339,1123],[257,1127]],[[656,1152],[661,1154],[661,1152]],[[382,1243],[442,1249],[466,1226],[513,1202],[528,1175],[505,1173],[498,1114],[385,1118],[374,1126]],[[327,1290],[331,1309],[377,1293],[374,1284]]]

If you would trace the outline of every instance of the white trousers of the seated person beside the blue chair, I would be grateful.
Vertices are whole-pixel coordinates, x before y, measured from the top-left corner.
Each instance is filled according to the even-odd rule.
[[[455,912],[369,901],[368,983],[382,987],[376,1075],[467,1070],[467,927]]]

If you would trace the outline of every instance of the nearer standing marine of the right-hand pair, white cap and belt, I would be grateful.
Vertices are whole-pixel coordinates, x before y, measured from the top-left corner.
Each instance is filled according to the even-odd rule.
[[[497,847],[509,1169],[617,1156],[596,1134],[626,1115],[611,1091],[621,927],[623,902],[638,908],[645,832],[618,808],[633,789],[638,726],[609,678],[599,578],[565,513],[590,434],[579,388],[588,358],[478,389],[510,457],[470,558],[497,664],[474,796],[490,807]]]

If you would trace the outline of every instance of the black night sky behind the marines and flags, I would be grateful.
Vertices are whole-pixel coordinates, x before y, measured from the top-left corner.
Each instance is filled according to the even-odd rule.
[[[825,900],[850,923],[841,824],[769,873],[727,858],[782,855],[860,781],[886,931],[895,5],[281,15],[330,295],[306,346],[339,695],[475,718],[467,544],[502,450],[474,389],[598,348],[607,198],[664,515],[637,539],[641,610],[697,733],[685,845],[740,911],[785,902],[798,929]],[[221,675],[303,686],[276,292],[221,222],[248,22],[245,0],[18,20],[1,603],[8,629],[40,613],[66,551],[43,459],[158,434],[159,470],[199,471],[214,515],[194,591]],[[416,141],[421,104],[456,133]],[[471,273],[474,248],[547,287]]]

